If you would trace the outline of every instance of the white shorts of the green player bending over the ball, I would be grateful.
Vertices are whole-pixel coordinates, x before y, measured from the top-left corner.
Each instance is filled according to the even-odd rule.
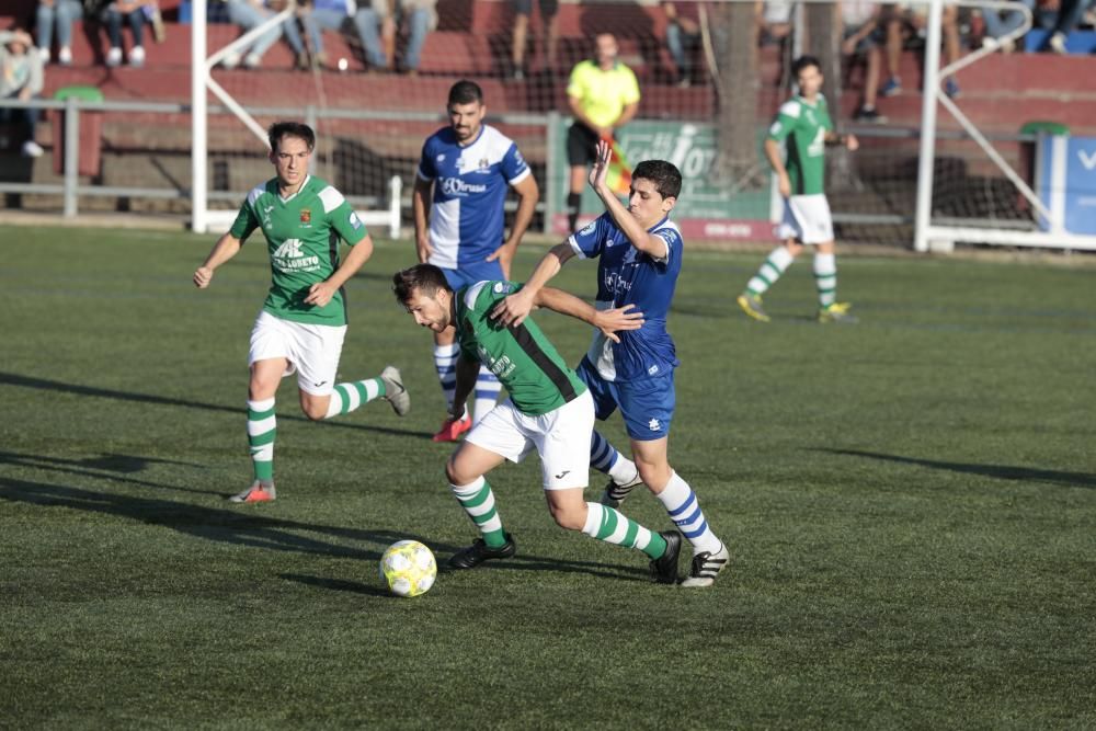
[[[590,484],[590,438],[594,432],[594,399],[590,391],[540,416],[523,414],[509,398],[468,432],[488,452],[520,462],[537,450],[545,490]]]

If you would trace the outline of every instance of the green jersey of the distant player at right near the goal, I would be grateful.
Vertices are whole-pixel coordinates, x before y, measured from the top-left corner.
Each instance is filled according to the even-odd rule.
[[[825,134],[833,132],[825,96],[819,94],[809,104],[796,96],[780,106],[776,122],[768,128],[768,139],[785,142],[788,159],[785,167],[791,181],[792,195],[822,193],[825,178]]]

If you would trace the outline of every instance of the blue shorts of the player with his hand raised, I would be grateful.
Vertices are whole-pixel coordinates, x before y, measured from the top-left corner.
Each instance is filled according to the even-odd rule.
[[[605,421],[619,408],[628,436],[637,442],[670,436],[677,402],[673,370],[655,378],[610,381],[601,377],[587,357],[582,358],[575,370],[594,397],[594,415],[598,421]]]

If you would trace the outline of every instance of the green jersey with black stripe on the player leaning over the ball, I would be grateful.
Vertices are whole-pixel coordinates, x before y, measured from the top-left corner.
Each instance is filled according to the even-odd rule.
[[[518,411],[539,416],[582,396],[586,386],[532,318],[516,328],[491,319],[494,306],[521,288],[511,282],[478,282],[457,292],[457,342],[464,357],[498,376]]]

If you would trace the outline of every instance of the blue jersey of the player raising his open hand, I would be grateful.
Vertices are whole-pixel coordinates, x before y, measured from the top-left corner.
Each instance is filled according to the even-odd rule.
[[[663,218],[649,231],[666,242],[663,256],[657,259],[636,249],[608,214],[602,214],[568,239],[579,256],[598,256],[598,309],[635,305],[633,309],[643,313],[643,327],[618,332],[619,343],[614,343],[600,330],[594,331],[594,342],[586,357],[606,380],[664,376],[678,365],[674,341],[666,332],[666,317],[682,271],[685,242],[669,218]]]

